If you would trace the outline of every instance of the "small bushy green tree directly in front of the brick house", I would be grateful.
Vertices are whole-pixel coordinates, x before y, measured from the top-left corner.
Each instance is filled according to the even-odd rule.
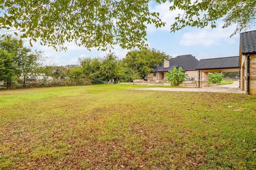
[[[166,73],[166,77],[166,80],[170,82],[172,86],[179,86],[181,83],[186,81],[187,75],[182,72],[181,67],[179,70],[174,67],[173,70],[169,70],[168,73]]]

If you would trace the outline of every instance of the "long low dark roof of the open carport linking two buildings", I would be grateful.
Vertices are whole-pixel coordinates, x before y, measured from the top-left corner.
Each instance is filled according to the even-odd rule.
[[[224,69],[239,67],[239,56],[200,60],[196,69]]]

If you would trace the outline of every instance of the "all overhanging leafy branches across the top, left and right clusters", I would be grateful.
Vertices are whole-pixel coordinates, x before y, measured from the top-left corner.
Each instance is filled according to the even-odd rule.
[[[147,25],[163,27],[159,13],[150,10],[150,0],[2,0],[0,30],[14,31],[21,38],[40,40],[42,45],[62,49],[73,41],[87,49],[147,46]],[[166,0],[154,0],[165,3]],[[170,12],[181,10],[171,25],[172,32],[186,26],[204,28],[223,19],[225,25],[236,24],[234,33],[255,25],[254,0],[170,0]]]

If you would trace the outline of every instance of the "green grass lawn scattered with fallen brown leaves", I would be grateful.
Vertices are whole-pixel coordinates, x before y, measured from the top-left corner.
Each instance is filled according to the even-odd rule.
[[[255,169],[256,96],[142,87],[0,91],[0,169]]]

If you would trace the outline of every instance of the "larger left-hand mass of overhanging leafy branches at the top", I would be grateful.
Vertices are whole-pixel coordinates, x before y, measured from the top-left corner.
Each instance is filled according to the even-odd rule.
[[[164,25],[149,11],[149,0],[10,0],[0,1],[0,29],[19,30],[21,38],[62,47],[68,41],[90,49],[143,47],[146,24]],[[18,33],[15,33],[18,35]],[[30,43],[31,44],[31,43]]]

